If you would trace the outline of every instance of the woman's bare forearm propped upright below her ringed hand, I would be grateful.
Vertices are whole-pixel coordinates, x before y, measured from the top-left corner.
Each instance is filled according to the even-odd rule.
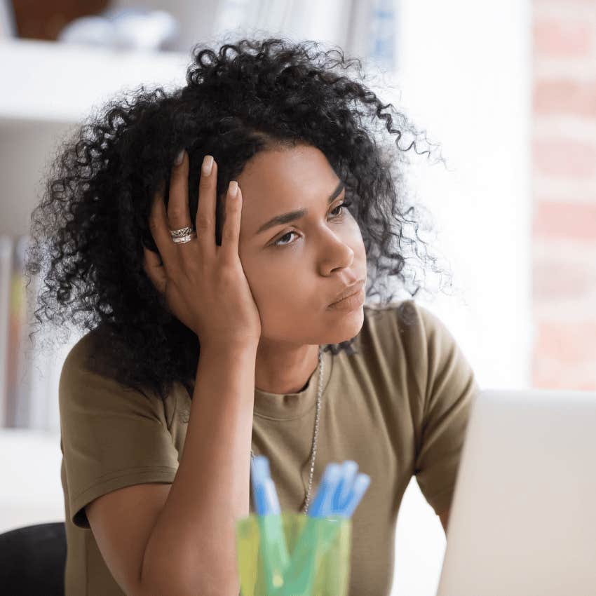
[[[249,513],[255,344],[201,345],[180,466],[144,553],[147,595],[236,596]]]

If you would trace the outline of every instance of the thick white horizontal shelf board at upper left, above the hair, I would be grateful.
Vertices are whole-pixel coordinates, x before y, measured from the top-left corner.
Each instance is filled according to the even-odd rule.
[[[184,86],[190,53],[118,50],[34,39],[0,40],[0,126],[76,123],[140,85]]]

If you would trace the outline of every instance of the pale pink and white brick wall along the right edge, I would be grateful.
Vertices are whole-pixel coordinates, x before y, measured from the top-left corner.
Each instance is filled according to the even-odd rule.
[[[596,390],[596,0],[533,2],[536,388]]]

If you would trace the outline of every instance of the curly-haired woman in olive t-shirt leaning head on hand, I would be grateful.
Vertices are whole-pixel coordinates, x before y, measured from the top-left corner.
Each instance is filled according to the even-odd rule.
[[[60,377],[67,595],[236,595],[251,453],[284,510],[330,461],[370,475],[351,596],[389,593],[413,474],[446,523],[478,386],[438,318],[379,292],[435,262],[405,202],[418,133],[315,46],[196,46],[184,88],[111,102],[57,161],[27,268],[39,323],[86,331]]]

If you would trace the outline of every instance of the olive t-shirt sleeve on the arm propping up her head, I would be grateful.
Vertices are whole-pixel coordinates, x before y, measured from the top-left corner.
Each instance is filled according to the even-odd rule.
[[[83,337],[62,365],[60,432],[72,522],[102,494],[145,482],[173,482],[177,449],[161,398],[128,388],[86,365]],[[144,393],[147,393],[145,395]]]

